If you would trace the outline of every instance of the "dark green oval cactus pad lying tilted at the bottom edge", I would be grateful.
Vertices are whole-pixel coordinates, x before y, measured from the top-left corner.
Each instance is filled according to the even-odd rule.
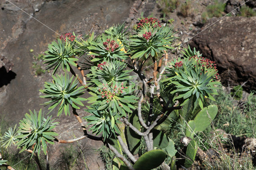
[[[163,150],[150,150],[140,156],[133,167],[136,170],[151,170],[160,166],[164,162],[165,157],[166,154]]]

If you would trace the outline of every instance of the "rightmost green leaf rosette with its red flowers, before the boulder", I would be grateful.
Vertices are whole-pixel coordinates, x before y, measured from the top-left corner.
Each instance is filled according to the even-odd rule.
[[[174,59],[169,67],[166,67],[166,75],[168,78],[164,82],[168,82],[171,94],[176,94],[173,101],[178,100],[180,105],[185,105],[189,99],[192,99],[193,108],[197,104],[203,108],[206,104],[206,98],[214,100],[212,95],[216,95],[217,85],[220,84],[218,79],[218,70],[213,61],[205,59],[198,54],[192,52],[189,48],[184,59]],[[194,50],[195,51],[195,50]],[[215,100],[214,100],[215,101]]]

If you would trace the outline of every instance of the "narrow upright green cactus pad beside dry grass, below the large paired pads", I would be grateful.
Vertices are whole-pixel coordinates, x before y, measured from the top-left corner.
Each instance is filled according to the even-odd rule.
[[[193,162],[194,162],[194,160],[196,158],[197,148],[198,148],[198,144],[196,143],[196,141],[191,140],[188,143],[186,155],[190,159],[186,159],[185,160],[185,164],[184,164],[185,168],[189,168],[193,164]]]

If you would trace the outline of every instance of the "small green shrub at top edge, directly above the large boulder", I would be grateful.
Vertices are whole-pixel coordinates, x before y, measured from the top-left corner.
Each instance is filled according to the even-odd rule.
[[[202,13],[202,21],[205,23],[208,19],[212,17],[222,17],[224,14],[226,4],[222,4],[218,2],[218,0],[214,1],[214,4],[209,4],[206,7],[206,12]]]

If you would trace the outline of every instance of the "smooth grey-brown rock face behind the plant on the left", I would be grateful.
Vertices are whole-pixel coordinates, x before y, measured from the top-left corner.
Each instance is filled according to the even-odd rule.
[[[44,88],[44,81],[52,81],[50,73],[46,72],[38,77],[32,73],[33,55],[46,51],[48,43],[67,32],[74,31],[83,35],[92,32],[102,34],[112,24],[124,22],[134,0],[10,0],[10,2],[0,0],[0,66],[5,66],[4,73],[12,68],[12,72],[9,71],[7,77],[15,77],[15,79],[10,79],[8,85],[0,81],[0,115],[6,116],[8,121],[18,123],[29,109],[38,111],[43,108],[40,104],[45,100],[39,98],[39,89]],[[30,49],[34,52],[30,52]],[[0,70],[0,79],[3,77],[6,76],[3,76]],[[81,111],[82,113],[79,114],[85,116],[86,113],[82,109]],[[47,108],[45,112],[48,112]],[[51,114],[57,116],[54,111]],[[70,125],[76,124],[76,119],[73,117],[60,117],[58,121],[62,126],[58,126],[56,131],[59,134],[65,132],[60,138],[73,138],[73,133],[80,135],[79,126],[73,127],[74,131],[67,131]],[[87,144],[90,148],[98,148],[102,142],[90,140]],[[59,148],[56,149],[56,158],[60,154],[59,151]],[[104,164],[99,155],[94,155],[88,167],[92,170],[104,169]]]

